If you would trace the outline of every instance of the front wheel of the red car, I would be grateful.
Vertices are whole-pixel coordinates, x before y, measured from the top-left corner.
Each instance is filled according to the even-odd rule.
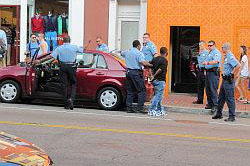
[[[4,103],[16,103],[21,96],[18,83],[12,80],[3,81],[0,84],[0,100]]]

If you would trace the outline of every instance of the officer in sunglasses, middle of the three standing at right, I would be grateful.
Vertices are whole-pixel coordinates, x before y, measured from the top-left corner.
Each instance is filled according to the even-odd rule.
[[[218,109],[218,86],[220,78],[221,53],[217,50],[214,41],[208,42],[209,54],[206,61],[203,62],[206,69],[206,93],[207,106],[206,109],[211,109],[211,114]]]

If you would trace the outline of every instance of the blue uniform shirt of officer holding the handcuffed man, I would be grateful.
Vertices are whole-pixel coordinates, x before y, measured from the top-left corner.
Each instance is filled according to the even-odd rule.
[[[125,57],[127,69],[142,69],[141,62],[145,61],[145,57],[137,48],[133,47],[129,51],[124,51],[122,54]]]

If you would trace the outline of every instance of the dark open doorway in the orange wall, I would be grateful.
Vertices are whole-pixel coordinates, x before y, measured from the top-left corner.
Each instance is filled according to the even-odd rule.
[[[197,81],[191,66],[197,63],[200,27],[172,26],[170,40],[172,45],[171,91],[195,93]]]

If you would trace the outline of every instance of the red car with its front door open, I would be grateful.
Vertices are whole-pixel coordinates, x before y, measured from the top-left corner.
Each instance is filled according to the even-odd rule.
[[[48,54],[47,54],[48,55]],[[57,64],[48,60],[40,65],[20,63],[0,69],[0,100],[14,103],[23,98],[62,99]],[[153,96],[153,86],[145,83],[147,101]],[[99,51],[77,55],[77,100],[97,101],[103,109],[114,110],[125,103],[125,63],[122,57]]]

